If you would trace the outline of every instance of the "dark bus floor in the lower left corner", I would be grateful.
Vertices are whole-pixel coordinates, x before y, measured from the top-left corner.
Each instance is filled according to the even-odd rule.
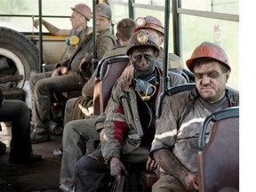
[[[1,192],[56,192],[59,188],[61,158],[52,155],[60,148],[61,136],[51,136],[51,140],[33,144],[35,153],[43,156],[42,161],[33,164],[10,164],[10,125],[1,123],[3,131],[0,140],[7,145],[6,152],[0,156],[0,191]]]

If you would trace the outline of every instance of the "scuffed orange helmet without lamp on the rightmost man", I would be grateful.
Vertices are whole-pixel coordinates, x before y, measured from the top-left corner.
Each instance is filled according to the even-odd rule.
[[[228,56],[226,52],[218,44],[213,44],[210,42],[204,42],[196,47],[195,51],[192,53],[191,58],[186,61],[187,67],[190,71],[194,71],[194,60],[199,58],[212,58],[214,60],[219,60],[223,63],[229,70],[231,70],[228,62]]]

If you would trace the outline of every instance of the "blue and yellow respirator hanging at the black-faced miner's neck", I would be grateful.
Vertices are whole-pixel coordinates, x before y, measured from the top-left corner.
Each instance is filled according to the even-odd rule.
[[[134,74],[135,90],[140,95],[141,100],[150,100],[156,93],[156,86],[158,85],[156,73],[141,79]]]

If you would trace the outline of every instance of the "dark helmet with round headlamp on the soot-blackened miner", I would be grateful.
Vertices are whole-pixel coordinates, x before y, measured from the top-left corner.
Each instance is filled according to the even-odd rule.
[[[152,46],[159,54],[159,47],[156,44],[156,38],[147,30],[140,29],[131,36],[127,44],[126,54],[129,55],[135,47],[146,45]]]

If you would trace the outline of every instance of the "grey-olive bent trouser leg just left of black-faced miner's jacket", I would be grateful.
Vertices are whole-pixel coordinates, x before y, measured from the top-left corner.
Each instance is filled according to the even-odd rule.
[[[88,148],[89,143],[92,144],[93,141],[100,140],[95,122],[96,116],[90,116],[87,119],[70,121],[65,125],[62,136],[63,154],[60,167],[60,183],[65,180],[74,180],[76,162],[86,153],[94,150],[93,146]]]

